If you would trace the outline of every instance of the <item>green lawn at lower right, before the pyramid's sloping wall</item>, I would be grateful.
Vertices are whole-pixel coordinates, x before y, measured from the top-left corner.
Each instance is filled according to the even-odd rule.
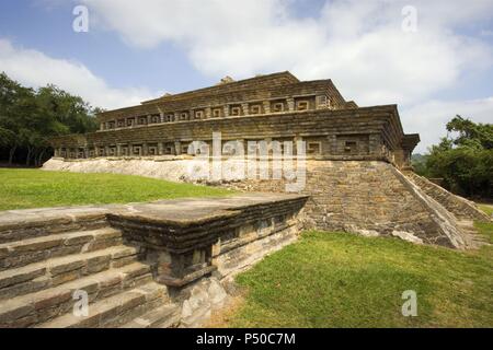
[[[493,238],[493,224],[478,229]],[[493,327],[493,248],[306,232],[237,277],[246,294],[231,327]],[[403,317],[402,292],[417,293]]]

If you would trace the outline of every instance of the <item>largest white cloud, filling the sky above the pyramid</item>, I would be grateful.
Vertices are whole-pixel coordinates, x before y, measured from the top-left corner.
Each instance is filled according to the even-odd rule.
[[[488,19],[493,2],[326,2],[319,16],[290,14],[293,0],[83,0],[96,23],[129,45],[174,42],[203,73],[245,78],[291,70],[332,78],[360,105],[413,104],[492,62],[491,48],[456,26]],[[404,33],[401,10],[417,10],[417,33]],[[473,62],[473,63],[472,63]]]

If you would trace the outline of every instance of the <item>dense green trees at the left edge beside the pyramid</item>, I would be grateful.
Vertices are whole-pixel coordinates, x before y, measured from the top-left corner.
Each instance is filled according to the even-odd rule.
[[[33,90],[0,74],[0,162],[39,165],[53,136],[94,131],[94,114],[79,96],[47,85]]]

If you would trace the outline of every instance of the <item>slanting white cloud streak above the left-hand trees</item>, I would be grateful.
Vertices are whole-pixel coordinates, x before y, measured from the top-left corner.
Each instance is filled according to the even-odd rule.
[[[80,95],[93,106],[103,108],[126,107],[156,95],[145,89],[111,88],[82,63],[14,47],[9,40],[1,38],[0,71],[27,86],[55,84],[69,93]]]

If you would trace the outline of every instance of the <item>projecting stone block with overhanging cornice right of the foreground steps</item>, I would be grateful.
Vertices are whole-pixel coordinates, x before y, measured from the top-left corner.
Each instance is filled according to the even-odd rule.
[[[221,278],[240,271],[291,243],[306,201],[298,195],[244,194],[149,203],[138,207],[140,213],[107,217],[128,243],[146,249],[157,280],[182,287],[213,271]]]

